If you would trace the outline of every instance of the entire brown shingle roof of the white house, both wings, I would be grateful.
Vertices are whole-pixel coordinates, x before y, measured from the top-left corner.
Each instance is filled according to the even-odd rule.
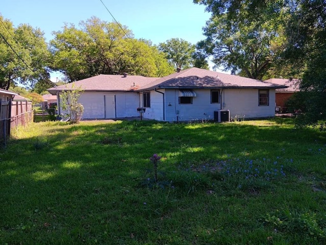
[[[74,85],[73,85],[74,84]],[[49,88],[51,94],[71,90],[84,91],[145,91],[159,88],[286,88],[287,86],[256,79],[224,74],[212,70],[189,68],[163,78],[143,76],[98,75],[67,85]]]

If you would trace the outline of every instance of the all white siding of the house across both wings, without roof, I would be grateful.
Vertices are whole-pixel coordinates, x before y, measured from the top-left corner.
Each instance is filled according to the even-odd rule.
[[[210,103],[210,89],[193,90],[197,96],[193,97],[193,104],[189,105],[179,105],[178,89],[160,89],[159,91],[164,94],[150,91],[150,108],[146,108],[143,117],[159,121],[214,119],[214,111],[220,109],[230,110],[230,117],[244,115],[245,118],[252,118],[275,115],[275,89],[269,89],[268,106],[258,106],[258,89],[220,89],[222,101],[219,104]],[[139,116],[137,107],[143,106],[142,93],[84,92],[79,99],[85,108],[84,119],[105,118],[104,95],[107,94],[115,95],[117,117]],[[165,101],[164,106],[163,101]]]

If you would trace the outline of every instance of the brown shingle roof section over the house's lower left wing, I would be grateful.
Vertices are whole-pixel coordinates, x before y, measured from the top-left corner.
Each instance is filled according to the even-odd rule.
[[[124,77],[123,75],[101,74],[74,83],[49,88],[47,91],[51,94],[56,94],[57,91],[71,90],[72,86],[84,91],[132,91],[157,79],[158,78],[147,78],[143,76]]]

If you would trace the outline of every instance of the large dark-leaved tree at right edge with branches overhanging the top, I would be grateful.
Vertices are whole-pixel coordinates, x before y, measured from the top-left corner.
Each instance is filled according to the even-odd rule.
[[[212,18],[242,21],[247,26],[271,22],[276,37],[283,40],[277,60],[279,70],[299,78],[297,94],[304,108],[298,119],[307,125],[326,120],[326,4],[320,0],[194,0],[206,6]],[[273,26],[272,26],[273,27]],[[241,27],[239,30],[243,30]],[[259,28],[255,28],[259,31]],[[283,36],[282,36],[283,35]],[[278,42],[277,43],[281,43]],[[274,53],[273,53],[274,54]],[[232,62],[234,63],[234,62]],[[269,73],[269,75],[273,75]],[[267,72],[267,73],[268,73]],[[293,76],[293,77],[294,77]]]

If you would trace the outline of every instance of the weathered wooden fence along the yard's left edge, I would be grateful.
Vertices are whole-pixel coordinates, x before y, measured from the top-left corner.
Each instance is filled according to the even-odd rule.
[[[6,145],[12,129],[33,121],[32,102],[0,99],[0,144]]]

